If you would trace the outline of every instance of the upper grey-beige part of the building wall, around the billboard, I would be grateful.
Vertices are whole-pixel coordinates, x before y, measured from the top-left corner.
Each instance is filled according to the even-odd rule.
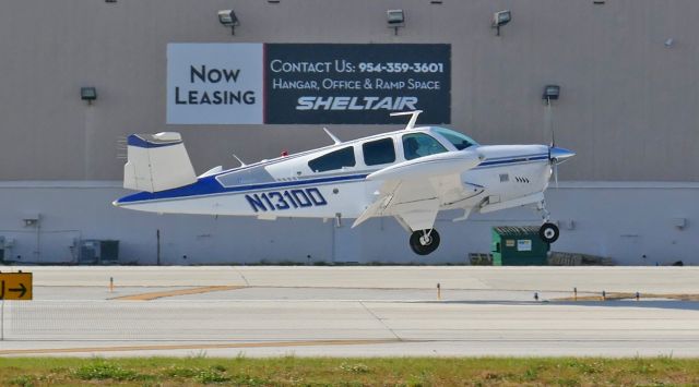
[[[216,19],[230,7],[235,36]],[[395,36],[386,10],[398,7]],[[501,9],[513,20],[496,37]],[[198,171],[235,165],[232,152],[256,160],[328,144],[316,125],[165,124],[168,43],[258,41],[451,44],[451,126],[482,143],[547,143],[541,93],[556,83],[556,137],[579,155],[561,179],[696,181],[698,13],[694,0],[2,1],[0,180],[119,180],[117,141],[133,132],[182,132]],[[96,104],[81,86],[97,87]]]

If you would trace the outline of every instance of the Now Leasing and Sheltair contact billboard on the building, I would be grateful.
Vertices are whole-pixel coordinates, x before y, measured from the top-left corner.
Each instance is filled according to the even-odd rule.
[[[450,45],[170,44],[167,59],[167,123],[451,119]]]

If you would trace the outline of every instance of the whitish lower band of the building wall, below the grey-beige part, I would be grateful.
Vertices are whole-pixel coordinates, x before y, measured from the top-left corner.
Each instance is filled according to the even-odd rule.
[[[454,214],[441,214],[436,223],[441,246],[428,257],[418,257],[407,246],[407,233],[392,218],[371,219],[350,229],[348,219],[336,228],[317,219],[159,216],[112,207],[111,201],[125,193],[118,182],[0,183],[0,237],[14,240],[5,257],[21,263],[70,263],[74,239],[116,239],[121,263],[155,264],[159,229],[164,265],[262,259],[463,263],[469,253],[489,251],[490,227],[540,222],[530,208],[476,214],[457,223],[449,220]],[[561,221],[555,251],[609,256],[621,265],[678,259],[699,264],[697,183],[561,182],[560,189],[550,189],[546,195],[553,218]],[[37,214],[40,228],[25,227],[23,219]],[[686,219],[684,229],[674,226],[676,218]]]

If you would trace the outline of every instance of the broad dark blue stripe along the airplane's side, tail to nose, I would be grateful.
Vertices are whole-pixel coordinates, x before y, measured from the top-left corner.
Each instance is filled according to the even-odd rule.
[[[500,167],[503,165],[511,164],[522,164],[522,162],[532,162],[538,160],[548,159],[547,155],[531,155],[531,156],[518,156],[517,158],[510,159],[495,159],[481,162],[477,167],[473,168],[474,170],[484,169],[489,167]],[[210,176],[205,178],[199,179],[196,183],[180,186],[177,189],[161,191],[161,192],[139,192],[132,195],[128,195],[121,197],[117,201],[117,204],[133,204],[139,202],[150,202],[150,201],[159,201],[159,199],[168,199],[168,198],[189,198],[194,196],[206,196],[206,195],[217,195],[225,194],[232,192],[248,192],[248,191],[262,191],[269,189],[280,189],[280,188],[289,188],[289,186],[303,186],[309,184],[325,184],[325,183],[344,183],[355,180],[364,180],[368,173],[360,174],[346,174],[339,177],[328,177],[328,178],[316,178],[316,179],[306,179],[306,180],[295,180],[295,181],[284,181],[284,182],[270,182],[270,183],[261,183],[261,184],[248,184],[248,185],[236,185],[236,186],[223,186],[215,179],[215,176]]]

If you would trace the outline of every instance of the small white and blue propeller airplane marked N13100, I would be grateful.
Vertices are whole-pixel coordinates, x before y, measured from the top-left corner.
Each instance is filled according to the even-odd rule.
[[[547,145],[479,145],[439,126],[415,128],[419,110],[404,130],[262,160],[234,169],[215,167],[197,176],[179,133],[132,134],[123,186],[141,191],[114,205],[161,214],[355,218],[392,216],[408,232],[419,255],[439,246],[437,213],[471,213],[536,205],[541,238],[558,239],[544,191],[570,150]]]

